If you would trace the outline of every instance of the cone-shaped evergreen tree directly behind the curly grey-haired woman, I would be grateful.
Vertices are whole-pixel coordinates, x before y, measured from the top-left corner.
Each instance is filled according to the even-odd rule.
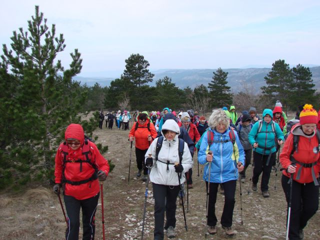
[[[223,107],[232,103],[231,87],[227,86],[227,75],[228,72],[223,71],[220,67],[213,72],[212,80],[208,83],[212,107]]]

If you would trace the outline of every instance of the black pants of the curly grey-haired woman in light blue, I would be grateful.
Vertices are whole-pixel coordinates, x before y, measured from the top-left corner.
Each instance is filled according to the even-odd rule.
[[[215,202],[219,184],[222,184],[224,189],[224,206],[220,223],[222,226],[230,227],[232,225],[233,208],[235,203],[234,195],[236,180],[230,180],[223,183],[210,182],[209,204],[207,206],[208,218],[206,220],[206,224],[208,226],[215,226],[217,222],[217,218],[215,215]],[[207,181],[205,182],[205,185],[206,192],[208,192]]]

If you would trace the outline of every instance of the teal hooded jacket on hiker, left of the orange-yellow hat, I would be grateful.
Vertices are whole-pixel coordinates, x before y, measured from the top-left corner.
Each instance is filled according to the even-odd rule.
[[[264,148],[253,148],[256,152],[260,153],[260,154],[264,154],[264,155],[268,155],[271,152],[275,152],[276,148],[275,148],[275,137],[279,140],[283,140],[283,132],[281,131],[280,126],[274,122],[274,129],[275,129],[275,133],[272,132],[272,121],[270,121],[269,123],[266,123],[264,121],[264,116],[268,114],[271,116],[272,118],[272,110],[271,109],[264,109],[263,113],[262,113],[262,128],[261,131],[259,133],[258,132],[258,128],[259,128],[259,121],[255,122],[254,125],[252,126],[249,135],[248,135],[248,139],[251,145],[253,145],[254,142],[257,142],[259,146],[262,147],[272,147],[271,149],[267,150]]]

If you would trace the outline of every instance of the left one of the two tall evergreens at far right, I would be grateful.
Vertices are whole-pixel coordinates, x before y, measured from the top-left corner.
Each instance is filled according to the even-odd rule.
[[[293,78],[292,71],[289,64],[284,60],[276,60],[272,63],[271,71],[264,77],[266,86],[262,86],[261,90],[263,98],[268,104],[274,105],[276,100],[280,100],[282,106],[289,103],[289,96],[291,95]]]

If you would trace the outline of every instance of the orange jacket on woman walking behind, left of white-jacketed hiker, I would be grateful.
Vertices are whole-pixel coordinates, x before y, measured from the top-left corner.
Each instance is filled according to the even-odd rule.
[[[137,117],[139,118],[139,117]],[[130,136],[135,137],[135,147],[140,150],[145,150],[149,148],[149,145],[151,144],[152,140],[156,137],[157,132],[155,130],[155,127],[152,122],[150,122],[150,131],[147,128],[147,124],[150,122],[150,119],[146,119],[143,125],[139,123],[139,119],[137,119],[136,122],[131,127],[131,130],[129,132],[129,138]],[[138,128],[135,130],[135,125],[138,124]],[[151,135],[152,140],[148,141],[148,136]]]

